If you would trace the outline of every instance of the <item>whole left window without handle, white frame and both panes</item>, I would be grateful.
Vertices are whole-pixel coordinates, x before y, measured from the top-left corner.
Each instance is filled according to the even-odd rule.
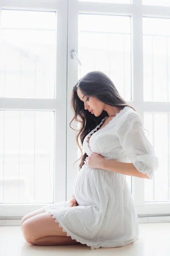
[[[0,216],[66,198],[67,9],[0,1]]]

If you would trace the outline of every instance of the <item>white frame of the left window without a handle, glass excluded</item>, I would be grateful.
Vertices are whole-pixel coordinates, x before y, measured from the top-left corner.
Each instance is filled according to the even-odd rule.
[[[68,0],[0,0],[0,10],[2,9],[57,12],[56,98],[1,97],[0,110],[54,111],[54,203],[65,201]],[[48,204],[0,204],[0,218],[21,218],[45,205]]]

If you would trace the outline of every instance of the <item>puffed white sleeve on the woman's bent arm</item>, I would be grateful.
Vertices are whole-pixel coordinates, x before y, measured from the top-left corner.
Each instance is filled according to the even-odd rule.
[[[143,121],[138,113],[129,113],[123,119],[117,136],[130,162],[152,180],[153,172],[159,167],[159,159],[144,133]]]

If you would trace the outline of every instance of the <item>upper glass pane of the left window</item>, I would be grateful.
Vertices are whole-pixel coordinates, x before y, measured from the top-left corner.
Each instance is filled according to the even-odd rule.
[[[2,10],[0,97],[54,98],[56,12]]]

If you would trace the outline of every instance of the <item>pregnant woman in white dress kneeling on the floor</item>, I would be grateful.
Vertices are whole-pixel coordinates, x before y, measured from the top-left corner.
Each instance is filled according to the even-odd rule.
[[[24,216],[23,236],[31,244],[91,249],[130,244],[139,238],[139,223],[126,175],[152,180],[159,166],[142,118],[100,71],[79,79],[71,104],[84,151],[74,195]]]

